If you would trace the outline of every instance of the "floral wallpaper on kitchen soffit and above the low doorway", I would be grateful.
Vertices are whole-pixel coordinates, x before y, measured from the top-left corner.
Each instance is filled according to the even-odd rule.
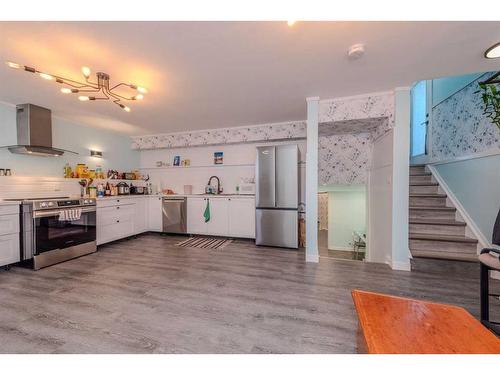
[[[366,182],[371,143],[394,126],[392,92],[320,101],[319,183]],[[192,147],[306,138],[306,122],[132,137],[132,148]]]

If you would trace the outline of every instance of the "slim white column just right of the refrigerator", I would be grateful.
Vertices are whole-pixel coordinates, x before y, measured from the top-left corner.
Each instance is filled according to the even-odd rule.
[[[307,98],[306,262],[319,262],[318,253],[318,111],[319,97]]]

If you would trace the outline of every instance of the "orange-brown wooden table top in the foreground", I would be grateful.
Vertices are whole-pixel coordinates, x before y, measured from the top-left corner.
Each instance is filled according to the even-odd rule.
[[[461,307],[361,290],[352,298],[368,353],[500,353],[500,339]]]

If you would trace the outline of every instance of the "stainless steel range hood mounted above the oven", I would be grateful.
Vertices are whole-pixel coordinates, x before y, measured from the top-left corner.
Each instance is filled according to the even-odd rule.
[[[13,154],[61,156],[65,152],[52,147],[52,114],[50,109],[34,104],[16,106],[17,145],[6,146]]]

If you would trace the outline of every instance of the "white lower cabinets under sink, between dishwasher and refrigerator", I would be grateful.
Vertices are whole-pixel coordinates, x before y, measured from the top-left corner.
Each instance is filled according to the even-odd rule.
[[[204,212],[210,205],[210,220]],[[253,198],[188,198],[187,231],[191,234],[255,238]]]

